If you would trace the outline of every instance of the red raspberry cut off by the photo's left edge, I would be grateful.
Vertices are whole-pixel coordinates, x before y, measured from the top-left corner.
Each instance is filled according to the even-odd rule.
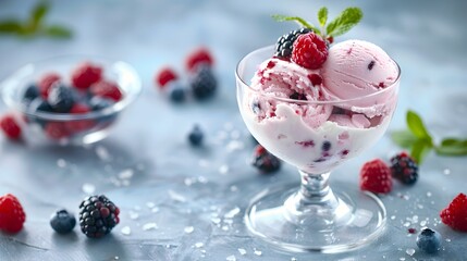
[[[26,221],[26,214],[16,197],[7,194],[0,197],[0,229],[19,233]]]

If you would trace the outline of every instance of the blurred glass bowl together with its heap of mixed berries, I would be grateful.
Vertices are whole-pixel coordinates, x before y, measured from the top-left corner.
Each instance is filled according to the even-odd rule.
[[[142,84],[122,61],[63,55],[21,67],[0,88],[23,139],[83,145],[107,137]]]

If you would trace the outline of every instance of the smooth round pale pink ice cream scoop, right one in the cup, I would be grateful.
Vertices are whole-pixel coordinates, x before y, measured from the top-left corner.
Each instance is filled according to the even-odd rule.
[[[324,91],[335,99],[368,96],[391,86],[398,76],[397,64],[380,47],[362,40],[346,40],[332,46],[321,69]],[[349,107],[368,108],[384,103],[389,97],[355,101]]]

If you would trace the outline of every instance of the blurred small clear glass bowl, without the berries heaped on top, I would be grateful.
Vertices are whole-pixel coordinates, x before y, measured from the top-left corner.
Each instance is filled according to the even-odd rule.
[[[83,62],[101,66],[102,77],[115,82],[123,98],[102,110],[83,114],[33,112],[23,102],[25,89],[30,84],[37,83],[42,75],[58,73],[69,85],[72,70]],[[15,115],[22,127],[23,138],[27,142],[84,145],[108,136],[112,126],[121,117],[121,112],[140,94],[142,83],[136,71],[125,62],[100,57],[62,55],[24,65],[2,80],[0,89],[3,101]],[[57,129],[56,134],[46,132],[47,126]]]

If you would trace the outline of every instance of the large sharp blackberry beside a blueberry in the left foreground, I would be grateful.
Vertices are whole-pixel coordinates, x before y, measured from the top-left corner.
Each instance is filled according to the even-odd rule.
[[[81,231],[91,238],[102,237],[119,224],[120,209],[106,196],[90,196],[79,204]]]

